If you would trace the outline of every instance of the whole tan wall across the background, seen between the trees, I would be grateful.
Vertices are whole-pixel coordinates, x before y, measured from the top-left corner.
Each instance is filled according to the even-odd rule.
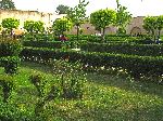
[[[59,15],[52,13],[42,13],[38,11],[0,10],[0,23],[2,22],[3,18],[14,17],[20,19],[21,25],[18,28],[23,28],[25,21],[41,21],[45,23],[45,28],[51,27],[57,18],[61,18],[63,16],[65,16],[65,14]],[[143,18],[145,16],[133,17],[130,23],[126,27],[126,32],[128,35],[146,33],[146,30],[142,27]],[[89,23],[83,24],[80,28],[83,29],[84,35],[95,35],[100,32],[96,30],[95,27]],[[76,33],[76,27],[73,27],[72,30],[68,31],[67,33],[73,35]],[[106,27],[105,33],[106,35],[116,33],[116,27],[113,26]],[[161,31],[161,33],[163,35],[163,31]]]

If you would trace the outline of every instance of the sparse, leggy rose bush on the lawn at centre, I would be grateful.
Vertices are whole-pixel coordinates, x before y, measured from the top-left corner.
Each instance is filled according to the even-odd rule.
[[[64,98],[75,99],[83,98],[85,93],[86,77],[82,71],[82,65],[77,62],[75,64],[66,60],[52,62],[53,72],[59,75],[61,95]],[[78,71],[79,69],[79,71]]]

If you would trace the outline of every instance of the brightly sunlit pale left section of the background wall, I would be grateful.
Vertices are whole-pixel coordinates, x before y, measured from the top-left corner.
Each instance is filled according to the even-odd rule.
[[[0,10],[0,23],[3,18],[14,17],[20,19],[20,27],[23,28],[25,21],[41,21],[45,27],[50,27],[57,18],[65,16],[64,14],[42,13],[38,11],[21,11],[21,10]]]

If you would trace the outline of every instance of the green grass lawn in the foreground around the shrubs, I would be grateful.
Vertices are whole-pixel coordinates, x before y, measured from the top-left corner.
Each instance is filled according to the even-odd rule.
[[[29,63],[21,66],[9,104],[22,116],[33,113],[38,99],[35,86],[28,81],[36,70],[43,72],[48,81],[55,81],[50,67]],[[2,68],[0,75],[3,75]],[[96,72],[87,73],[87,80],[83,99],[58,99],[46,105],[48,121],[163,121],[163,85]],[[4,105],[1,97],[0,104],[1,110]]]

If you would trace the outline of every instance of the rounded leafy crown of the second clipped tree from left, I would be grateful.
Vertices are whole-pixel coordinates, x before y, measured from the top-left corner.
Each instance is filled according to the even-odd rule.
[[[45,30],[43,23],[40,21],[38,21],[38,22],[26,21],[26,22],[24,22],[24,28],[32,35],[33,35],[33,32],[38,33],[38,32],[42,32]]]

